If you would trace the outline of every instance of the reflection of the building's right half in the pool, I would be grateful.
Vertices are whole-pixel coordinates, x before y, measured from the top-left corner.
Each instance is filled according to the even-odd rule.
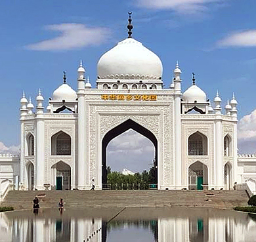
[[[245,214],[245,216],[247,216]],[[255,222],[248,217],[210,217],[210,218],[159,218],[158,241],[179,242],[239,242],[253,241],[256,236]]]

